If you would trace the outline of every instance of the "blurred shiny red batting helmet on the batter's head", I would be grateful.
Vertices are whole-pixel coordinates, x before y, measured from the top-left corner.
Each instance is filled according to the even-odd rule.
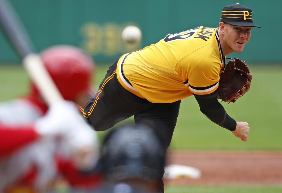
[[[55,45],[40,53],[51,78],[66,100],[88,90],[93,72],[92,58],[80,48],[70,45]],[[32,93],[39,94],[32,84]]]

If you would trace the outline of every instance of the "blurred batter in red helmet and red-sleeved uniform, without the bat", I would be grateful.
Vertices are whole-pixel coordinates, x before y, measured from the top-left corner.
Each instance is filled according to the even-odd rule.
[[[53,46],[40,55],[68,101],[48,108],[32,83],[28,96],[0,104],[0,192],[46,192],[59,175],[80,188],[103,178],[98,138],[75,104],[91,95],[93,60],[69,45]]]

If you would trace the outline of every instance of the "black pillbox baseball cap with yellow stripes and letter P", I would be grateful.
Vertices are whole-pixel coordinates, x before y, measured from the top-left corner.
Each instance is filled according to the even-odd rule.
[[[234,26],[261,28],[253,23],[252,10],[249,7],[237,4],[225,6],[221,11],[220,21]]]

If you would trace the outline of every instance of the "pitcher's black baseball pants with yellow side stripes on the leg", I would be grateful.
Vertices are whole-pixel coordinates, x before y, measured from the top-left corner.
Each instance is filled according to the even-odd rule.
[[[134,116],[135,123],[147,124],[169,147],[181,100],[173,103],[151,103],[124,89],[116,75],[117,61],[109,67],[95,98],[88,101],[84,113],[96,131],[105,131],[116,123]],[[160,184],[163,190],[163,182]]]

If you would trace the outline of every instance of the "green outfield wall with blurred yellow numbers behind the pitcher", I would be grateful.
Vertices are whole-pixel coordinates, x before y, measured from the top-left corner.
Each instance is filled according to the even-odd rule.
[[[22,18],[38,51],[55,44],[83,48],[96,62],[113,62],[118,56],[158,42],[168,33],[191,28],[217,27],[221,9],[240,3],[253,10],[252,37],[239,57],[246,62],[281,63],[282,1],[92,1],[92,0],[10,0]],[[142,40],[128,45],[121,31],[136,25]],[[19,62],[19,57],[0,32],[0,62]]]

